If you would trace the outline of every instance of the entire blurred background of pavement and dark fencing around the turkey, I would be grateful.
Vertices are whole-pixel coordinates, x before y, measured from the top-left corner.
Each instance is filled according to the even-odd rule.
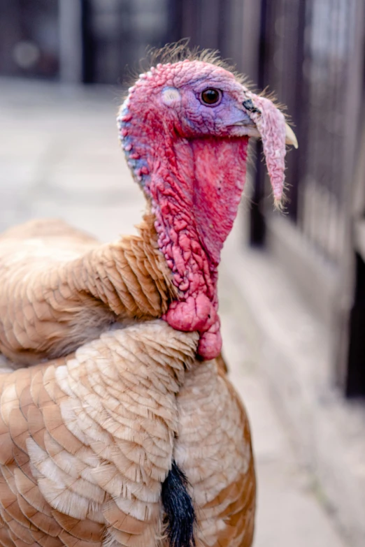
[[[252,419],[257,547],[365,544],[363,0],[0,0],[0,228],[102,240],[143,210],[115,113],[147,46],[220,50],[287,105],[273,212],[259,143],[224,249],[224,351]]]

